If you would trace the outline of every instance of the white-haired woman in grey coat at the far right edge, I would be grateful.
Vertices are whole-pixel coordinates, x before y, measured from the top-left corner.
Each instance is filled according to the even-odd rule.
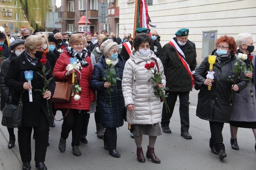
[[[239,34],[236,38],[236,43],[239,49],[237,50],[236,57],[238,53],[243,53],[246,55],[252,55],[252,61],[247,58],[243,61],[243,64],[246,64],[247,68],[250,67],[250,64],[253,64],[255,61],[255,54],[252,53],[254,50],[252,34],[242,33]],[[254,72],[254,71],[253,71]],[[251,78],[252,83],[254,83],[253,73],[245,73],[245,77]],[[249,82],[250,84],[250,82]],[[236,96],[234,102],[233,111],[230,119],[230,132],[231,132],[231,147],[232,149],[239,150],[237,144],[237,130],[240,128],[250,128],[252,129],[256,141],[256,112],[254,110],[253,98],[250,95],[252,88],[250,86],[246,87],[239,96]],[[255,94],[255,89],[253,88],[253,94]],[[255,96],[254,96],[255,97]],[[256,150],[256,143],[255,143]]]

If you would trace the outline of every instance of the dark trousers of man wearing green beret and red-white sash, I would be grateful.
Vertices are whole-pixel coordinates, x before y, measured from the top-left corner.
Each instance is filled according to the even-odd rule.
[[[169,126],[170,124],[170,119],[173,114],[173,110],[175,107],[175,103],[177,101],[177,96],[179,95],[180,99],[180,124],[181,128],[180,131],[182,132],[188,132],[189,129],[189,92],[167,92],[169,93],[168,98],[166,98],[166,102],[168,104],[168,107],[170,109],[171,113],[166,112],[165,105],[163,105],[163,111],[162,111],[162,126]]]

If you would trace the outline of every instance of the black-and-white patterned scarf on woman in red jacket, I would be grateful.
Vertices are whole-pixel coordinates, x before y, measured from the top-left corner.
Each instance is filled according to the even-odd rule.
[[[89,63],[86,62],[85,57],[87,56],[87,49],[84,47],[82,52],[77,52],[74,48],[68,46],[66,51],[72,56],[77,57],[77,62],[80,62],[82,66],[87,67]],[[82,67],[81,67],[82,69]]]

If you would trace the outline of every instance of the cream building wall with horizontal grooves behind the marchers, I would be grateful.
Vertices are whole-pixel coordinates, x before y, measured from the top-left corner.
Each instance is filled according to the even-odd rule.
[[[119,0],[119,36],[133,33],[135,2]],[[129,1],[131,2],[131,0]],[[168,43],[180,28],[188,28],[188,39],[196,44],[197,62],[201,62],[202,31],[218,30],[218,36],[237,37],[248,32],[256,41],[256,0],[154,0],[148,6],[151,24]],[[205,56],[203,56],[205,57]]]

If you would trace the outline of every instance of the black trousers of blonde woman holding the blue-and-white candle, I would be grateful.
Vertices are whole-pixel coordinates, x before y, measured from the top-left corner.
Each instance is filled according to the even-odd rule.
[[[49,123],[43,111],[40,109],[39,126],[33,127],[35,138],[35,162],[45,162],[47,144],[49,140]],[[19,152],[22,162],[31,161],[31,132],[32,127],[18,128]]]

